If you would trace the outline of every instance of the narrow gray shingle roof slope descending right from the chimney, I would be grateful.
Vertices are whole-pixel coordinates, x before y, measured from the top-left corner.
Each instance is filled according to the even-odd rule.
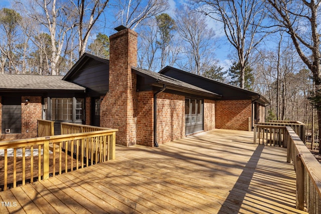
[[[136,68],[136,67],[132,67],[132,70],[134,70],[136,72],[136,74],[140,74],[140,75],[143,75],[143,76],[148,76],[150,78],[153,78],[156,83],[168,84],[168,85],[171,85],[171,86],[184,88],[184,89],[187,89],[187,90],[190,90],[190,91],[209,94],[209,95],[212,95],[212,96],[215,96],[215,97],[221,97],[222,96],[222,95],[213,93],[211,91],[207,91],[205,89],[199,88],[197,86],[191,85],[189,83],[186,83],[186,82],[171,78],[171,77],[163,75],[163,74],[155,73],[155,72],[152,72],[152,71],[148,71],[148,70],[140,69],[140,68]]]

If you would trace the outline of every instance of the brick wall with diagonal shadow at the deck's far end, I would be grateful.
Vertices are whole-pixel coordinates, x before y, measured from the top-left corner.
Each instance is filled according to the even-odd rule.
[[[216,101],[216,128],[248,131],[248,118],[251,117],[251,111],[251,100]]]

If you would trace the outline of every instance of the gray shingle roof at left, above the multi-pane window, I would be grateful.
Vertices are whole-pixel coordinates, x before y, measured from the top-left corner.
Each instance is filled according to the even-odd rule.
[[[0,90],[85,90],[84,87],[62,78],[63,76],[0,74]]]

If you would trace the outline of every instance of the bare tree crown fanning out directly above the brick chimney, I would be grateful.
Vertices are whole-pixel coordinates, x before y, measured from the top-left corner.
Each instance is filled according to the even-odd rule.
[[[119,0],[116,6],[119,12],[117,20],[126,28],[135,28],[144,20],[148,20],[169,9],[168,0]]]

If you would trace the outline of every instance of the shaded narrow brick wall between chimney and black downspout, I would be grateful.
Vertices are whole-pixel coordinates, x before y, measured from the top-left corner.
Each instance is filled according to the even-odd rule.
[[[137,93],[137,125],[136,143],[153,146],[153,92],[142,91]]]

